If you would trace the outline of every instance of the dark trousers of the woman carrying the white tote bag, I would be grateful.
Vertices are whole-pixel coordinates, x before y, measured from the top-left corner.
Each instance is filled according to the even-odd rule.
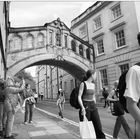
[[[86,117],[88,121],[92,121],[94,128],[95,128],[95,133],[96,133],[96,138],[97,139],[105,139],[105,134],[102,131],[102,125],[99,117],[98,110],[96,108],[96,104],[94,101],[83,101],[83,105],[86,108]],[[81,110],[79,111],[79,119],[80,121],[83,121],[83,115],[81,115]]]

